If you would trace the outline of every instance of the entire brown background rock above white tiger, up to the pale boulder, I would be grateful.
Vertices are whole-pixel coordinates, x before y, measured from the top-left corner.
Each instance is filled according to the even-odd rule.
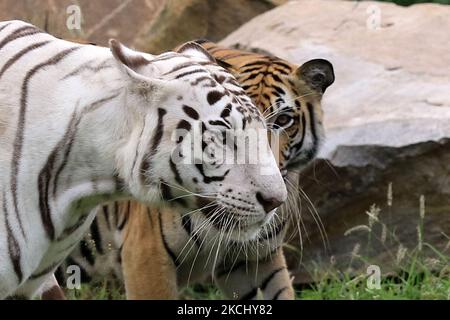
[[[106,46],[117,38],[151,53],[198,38],[218,41],[258,14],[287,0],[2,0],[0,20],[21,19],[53,35]],[[81,28],[69,30],[77,5]]]

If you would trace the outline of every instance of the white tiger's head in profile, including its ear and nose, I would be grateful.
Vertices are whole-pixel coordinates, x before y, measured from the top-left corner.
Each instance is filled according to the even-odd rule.
[[[263,117],[233,76],[194,43],[158,56],[110,47],[136,110],[118,156],[132,195],[203,207],[257,232],[287,191]]]

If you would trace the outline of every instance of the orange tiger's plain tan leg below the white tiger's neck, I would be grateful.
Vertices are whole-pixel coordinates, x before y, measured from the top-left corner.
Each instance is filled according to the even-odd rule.
[[[176,268],[161,238],[160,219],[164,215],[161,211],[138,203],[130,206],[122,248],[127,299],[178,297]]]

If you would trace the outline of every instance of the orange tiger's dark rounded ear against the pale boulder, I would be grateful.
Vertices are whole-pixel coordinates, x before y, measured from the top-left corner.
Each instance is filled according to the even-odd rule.
[[[295,72],[297,77],[304,80],[312,89],[321,93],[324,93],[334,82],[333,65],[325,59],[305,62]]]

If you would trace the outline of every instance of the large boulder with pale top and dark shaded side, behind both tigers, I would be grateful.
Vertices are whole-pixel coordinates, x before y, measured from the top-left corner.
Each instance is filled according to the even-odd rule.
[[[365,272],[361,256],[382,272],[398,269],[403,248],[408,257],[421,243],[421,195],[423,241],[449,255],[449,30],[450,6],[299,0],[258,16],[222,41],[299,64],[325,58],[335,67],[336,82],[323,100],[327,141],[321,159],[300,177],[323,221],[328,248],[303,201],[309,240],[300,267],[296,251],[286,249],[297,281],[310,281],[311,270],[330,263]],[[372,204],[380,212],[369,236],[362,225],[368,225]],[[292,244],[298,246],[298,239]]]

